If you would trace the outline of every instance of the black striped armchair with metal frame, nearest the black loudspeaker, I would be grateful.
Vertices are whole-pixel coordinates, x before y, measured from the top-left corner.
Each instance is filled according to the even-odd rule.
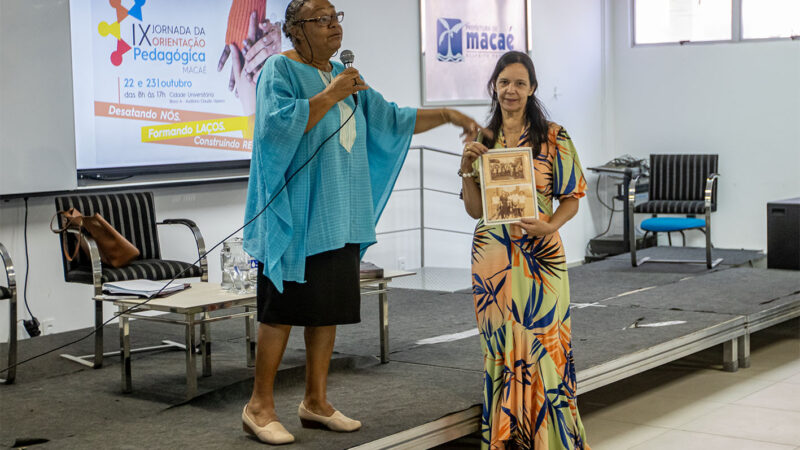
[[[650,155],[650,190],[646,202],[636,205],[635,177],[628,188],[628,228],[631,264],[637,267],[645,262],[705,264],[716,267],[722,258],[712,259],[711,213],[717,210],[717,179],[719,155]],[[673,232],[699,230],[706,237],[705,260],[651,259],[636,257],[634,214],[652,214],[642,221],[641,228],[648,232]],[[658,217],[658,214],[679,214],[685,217]],[[698,215],[705,218],[699,219]],[[672,238],[670,238],[672,245]],[[684,235],[684,245],[686,236]]]

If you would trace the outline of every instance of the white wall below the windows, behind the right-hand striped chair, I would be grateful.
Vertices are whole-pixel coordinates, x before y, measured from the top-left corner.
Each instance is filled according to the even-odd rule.
[[[766,249],[766,203],[800,196],[800,41],[632,48],[628,2],[608,1],[611,150],[718,153],[714,245]]]

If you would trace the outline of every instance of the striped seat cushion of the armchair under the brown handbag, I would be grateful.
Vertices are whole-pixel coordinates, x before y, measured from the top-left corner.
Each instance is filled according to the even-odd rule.
[[[169,280],[177,276],[182,270],[186,272],[180,275],[180,278],[199,277],[203,271],[199,266],[193,266],[189,263],[181,261],[167,261],[159,260],[137,260],[125,267],[115,269],[113,267],[103,266],[102,282],[108,283],[112,281],[126,281],[126,280]],[[71,270],[66,275],[66,281],[73,283],[92,284],[92,271],[85,268]]]

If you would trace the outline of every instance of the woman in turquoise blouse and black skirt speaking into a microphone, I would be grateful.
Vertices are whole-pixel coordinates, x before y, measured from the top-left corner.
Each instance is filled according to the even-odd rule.
[[[283,31],[294,50],[269,58],[258,81],[246,219],[275,200],[244,232],[260,276],[255,382],[242,422],[246,432],[271,444],[294,441],[273,401],[293,325],[305,327],[303,426],[361,427],[326,396],[336,325],[360,321],[360,255],[376,242],[375,224],[412,134],[445,123],[461,127],[465,139],[478,131],[455,110],[387,102],[356,69],[331,61],[341,46],[342,18],[328,0],[290,2]]]

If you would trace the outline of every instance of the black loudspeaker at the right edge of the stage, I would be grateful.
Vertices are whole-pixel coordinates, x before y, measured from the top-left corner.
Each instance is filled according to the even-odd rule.
[[[767,203],[767,267],[800,270],[800,197]]]

